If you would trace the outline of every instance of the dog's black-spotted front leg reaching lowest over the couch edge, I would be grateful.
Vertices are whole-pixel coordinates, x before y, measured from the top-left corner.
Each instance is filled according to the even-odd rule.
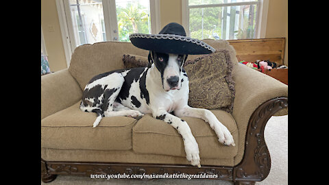
[[[174,116],[173,114],[169,114],[166,110],[158,110],[153,112],[153,117],[169,123],[178,131],[180,135],[182,135],[186,159],[190,161],[193,166],[201,167],[199,146],[197,145],[197,141],[195,140],[186,121]]]

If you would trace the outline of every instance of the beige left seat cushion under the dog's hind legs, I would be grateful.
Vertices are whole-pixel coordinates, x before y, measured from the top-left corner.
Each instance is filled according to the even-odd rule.
[[[52,149],[132,149],[136,119],[103,117],[93,128],[94,112],[82,112],[80,101],[41,120],[41,147]]]

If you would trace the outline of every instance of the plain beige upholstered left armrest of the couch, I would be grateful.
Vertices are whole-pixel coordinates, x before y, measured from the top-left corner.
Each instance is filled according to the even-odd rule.
[[[82,89],[68,69],[41,76],[41,119],[82,99]]]

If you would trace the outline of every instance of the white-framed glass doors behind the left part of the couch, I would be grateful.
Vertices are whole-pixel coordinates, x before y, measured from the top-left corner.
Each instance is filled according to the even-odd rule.
[[[58,1],[64,5],[72,50],[79,45],[108,40],[130,42],[132,33],[151,34],[152,0]]]

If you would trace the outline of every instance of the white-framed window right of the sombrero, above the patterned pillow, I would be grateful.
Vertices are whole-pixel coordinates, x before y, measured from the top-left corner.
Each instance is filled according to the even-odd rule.
[[[192,38],[232,40],[260,36],[261,0],[182,1],[182,6],[186,5],[183,25]]]

